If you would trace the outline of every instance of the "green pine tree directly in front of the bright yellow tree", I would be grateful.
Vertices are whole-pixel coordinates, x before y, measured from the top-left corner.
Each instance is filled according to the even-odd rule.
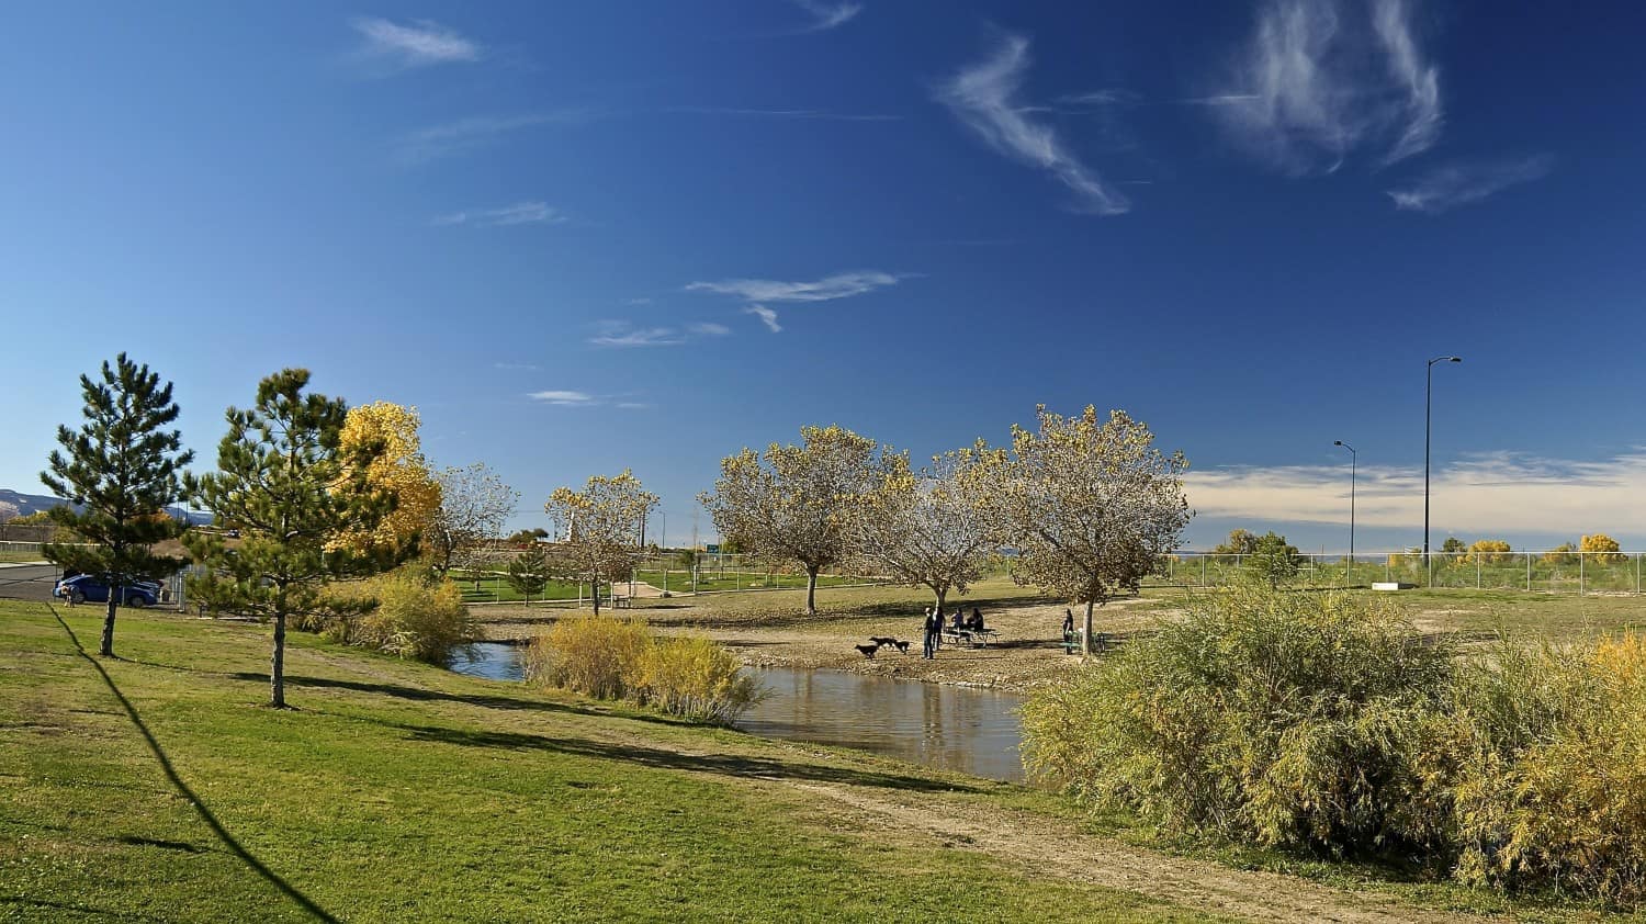
[[[308,369],[285,369],[257,385],[257,404],[229,408],[229,433],[217,445],[217,471],[189,479],[191,496],[217,517],[222,532],[188,535],[189,552],[207,573],[189,581],[219,606],[272,619],[270,705],[285,708],[288,616],[354,616],[370,600],[328,595],[329,581],[392,567],[387,552],[337,542],[370,532],[393,511],[392,494],[365,481],[384,446],[365,445],[344,456],[342,399],[303,394]]]

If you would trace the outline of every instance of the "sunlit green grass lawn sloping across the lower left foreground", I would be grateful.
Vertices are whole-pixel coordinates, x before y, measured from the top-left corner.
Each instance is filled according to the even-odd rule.
[[[64,616],[95,642],[95,614]],[[1202,919],[884,843],[797,784],[1052,799],[1032,791],[301,632],[291,712],[260,705],[263,628],[125,613],[115,647],[94,662],[46,606],[0,601],[0,921]]]

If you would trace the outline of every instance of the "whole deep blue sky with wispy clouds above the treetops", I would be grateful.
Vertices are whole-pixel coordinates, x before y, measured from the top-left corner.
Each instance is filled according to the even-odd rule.
[[[1646,547],[1631,5],[12,7],[0,486],[125,349],[214,458],[305,366],[543,520],[744,445],[1121,407],[1190,545]],[[708,517],[698,520],[709,532]]]

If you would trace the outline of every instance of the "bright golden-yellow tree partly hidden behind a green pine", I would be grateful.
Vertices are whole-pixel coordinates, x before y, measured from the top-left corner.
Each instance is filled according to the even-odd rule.
[[[395,509],[370,532],[347,532],[332,547],[356,550],[410,550],[430,532],[439,512],[439,481],[423,460],[418,428],[423,418],[415,407],[392,402],[362,404],[349,408],[342,425],[342,458],[364,446],[382,446],[365,471],[365,484],[392,494]]]

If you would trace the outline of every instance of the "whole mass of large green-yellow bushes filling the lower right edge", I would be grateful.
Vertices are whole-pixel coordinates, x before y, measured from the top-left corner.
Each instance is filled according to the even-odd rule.
[[[1246,586],[1187,609],[1030,695],[1037,777],[1177,833],[1646,898],[1643,639],[1463,659],[1378,598]]]

